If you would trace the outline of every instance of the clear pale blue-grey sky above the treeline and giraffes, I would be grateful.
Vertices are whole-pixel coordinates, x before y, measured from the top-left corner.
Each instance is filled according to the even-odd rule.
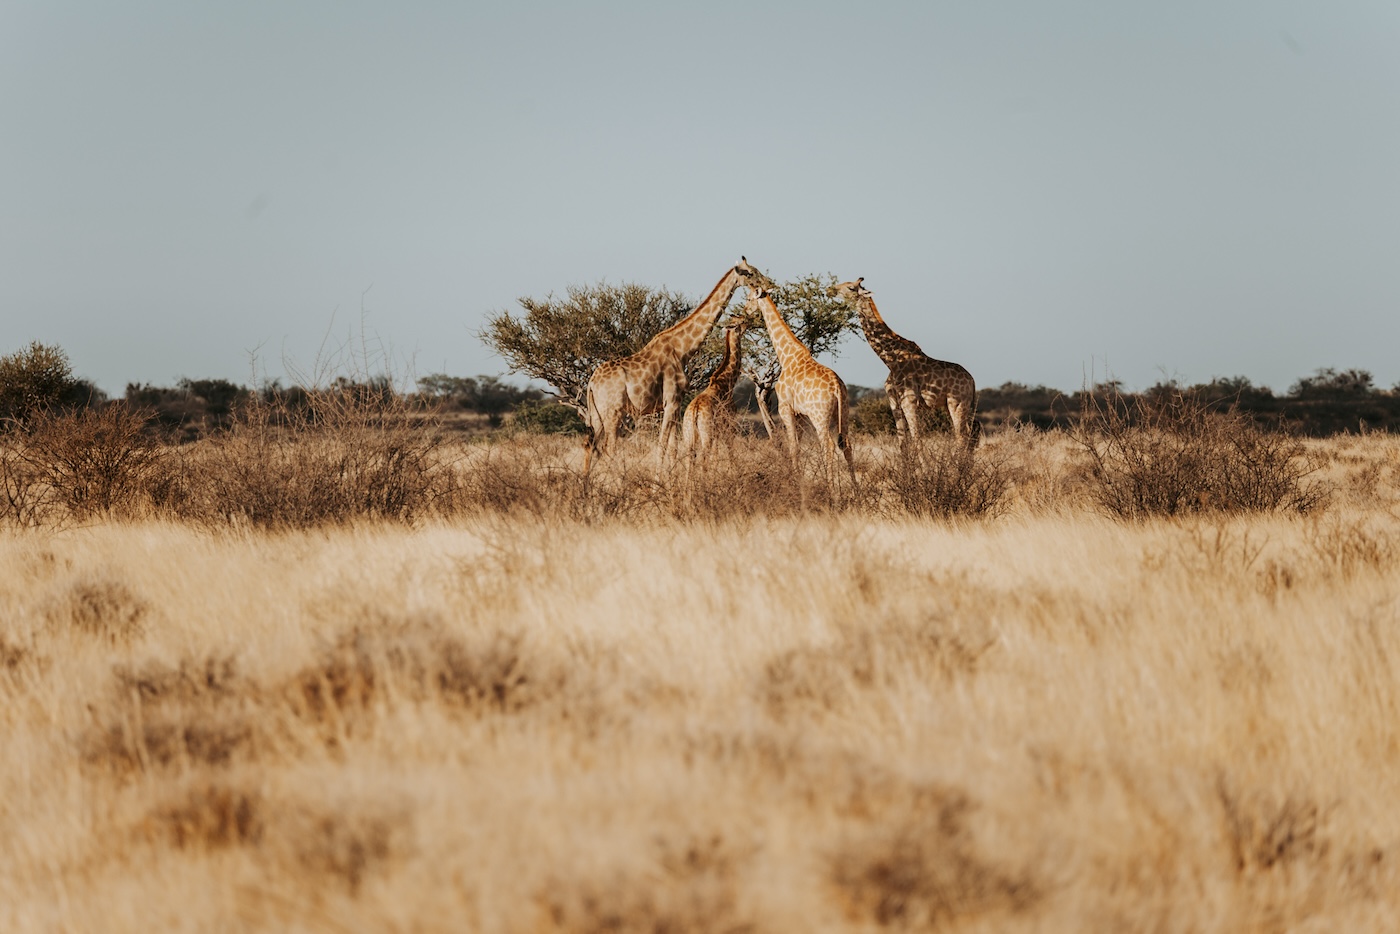
[[[1400,3],[0,0],[0,353],[112,393],[741,253],[980,385],[1390,385]]]

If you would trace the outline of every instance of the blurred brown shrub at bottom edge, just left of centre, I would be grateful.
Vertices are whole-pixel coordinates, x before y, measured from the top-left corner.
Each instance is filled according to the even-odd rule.
[[[750,849],[736,847],[720,833],[680,840],[662,837],[645,872],[554,879],[539,895],[547,917],[546,930],[580,934],[753,931],[757,926],[745,917],[738,893],[750,854]]]

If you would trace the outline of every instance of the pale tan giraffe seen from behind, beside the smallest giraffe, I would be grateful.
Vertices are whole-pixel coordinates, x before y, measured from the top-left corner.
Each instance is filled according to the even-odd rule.
[[[778,307],[773,302],[769,288],[752,288],[749,301],[743,305],[745,316],[755,316],[756,311],[763,312],[763,325],[769,329],[773,340],[773,351],[778,358],[781,372],[773,389],[778,396],[778,417],[787,428],[788,452],[792,455],[794,471],[798,466],[797,448],[797,419],[806,416],[816,430],[818,442],[822,445],[822,456],[826,459],[827,472],[836,463],[836,451],[840,448],[846,455],[846,469],[851,475],[851,485],[855,485],[855,461],[851,458],[850,438],[850,399],[846,384],[830,367],[823,367],[812,356],[787,322],[778,314]],[[832,434],[836,437],[833,438]]]

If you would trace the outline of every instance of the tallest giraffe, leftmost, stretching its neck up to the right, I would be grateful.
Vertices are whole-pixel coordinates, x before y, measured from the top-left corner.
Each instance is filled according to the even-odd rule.
[[[584,476],[594,456],[612,451],[623,416],[644,416],[661,412],[661,461],[669,454],[680,412],[680,398],[686,392],[686,360],[704,342],[714,322],[720,319],[734,293],[741,286],[773,287],[773,280],[749,265],[743,256],[729,269],[700,305],[647,342],[647,346],[620,360],[609,360],[594,370],[588,379],[585,421],[588,440],[584,442]]]

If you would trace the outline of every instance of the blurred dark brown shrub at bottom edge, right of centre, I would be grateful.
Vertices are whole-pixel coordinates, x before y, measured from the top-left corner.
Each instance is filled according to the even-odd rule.
[[[972,800],[949,788],[910,788],[903,807],[832,856],[832,881],[851,920],[937,930],[951,921],[1030,907],[1030,877],[983,858],[967,818]]]

